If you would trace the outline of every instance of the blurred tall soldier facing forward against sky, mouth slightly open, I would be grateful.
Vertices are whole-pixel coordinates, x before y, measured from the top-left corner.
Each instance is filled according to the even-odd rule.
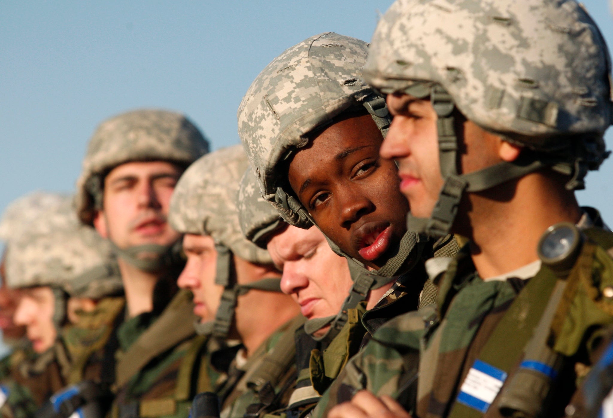
[[[177,292],[180,234],[167,223],[170,196],[208,143],[184,116],[137,110],[102,122],[77,182],[77,214],[109,239],[126,294],[112,312],[101,380],[116,389],[113,416],[183,416],[177,373],[195,337],[189,292]]]

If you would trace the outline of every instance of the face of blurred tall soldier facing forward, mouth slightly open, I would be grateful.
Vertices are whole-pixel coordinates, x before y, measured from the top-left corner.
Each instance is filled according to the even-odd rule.
[[[120,248],[170,245],[180,234],[167,223],[170,196],[182,170],[172,163],[131,162],[113,168],[104,180],[103,209],[96,230]]]

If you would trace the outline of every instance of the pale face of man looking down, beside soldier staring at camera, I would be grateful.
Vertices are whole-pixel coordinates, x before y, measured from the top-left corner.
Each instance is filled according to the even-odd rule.
[[[316,227],[287,226],[268,242],[268,253],[282,271],[281,290],[308,319],[336,315],[352,281],[344,257],[336,255]],[[325,330],[323,330],[325,332]]]

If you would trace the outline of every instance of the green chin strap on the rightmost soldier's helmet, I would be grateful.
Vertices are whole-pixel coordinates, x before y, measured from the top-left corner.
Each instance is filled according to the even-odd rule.
[[[444,237],[451,231],[464,192],[481,192],[553,164],[520,157],[514,162],[501,162],[473,173],[458,174],[459,144],[454,127],[455,103],[451,95],[439,84],[434,84],[431,89],[424,89],[424,84],[415,83],[405,89],[405,92],[418,98],[430,95],[432,106],[438,116],[436,120],[438,152],[441,175],[444,179],[438,201],[429,218],[417,218],[410,212],[406,215],[406,226],[409,231],[425,233],[431,237]]]

